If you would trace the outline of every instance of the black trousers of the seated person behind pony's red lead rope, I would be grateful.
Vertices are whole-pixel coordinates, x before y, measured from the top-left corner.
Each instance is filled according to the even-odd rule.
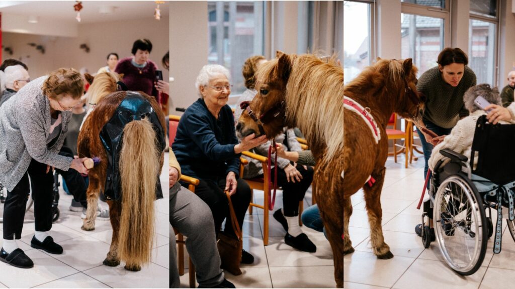
[[[277,186],[282,187],[283,190],[283,211],[285,216],[297,216],[299,215],[299,202],[302,201],[307,189],[313,182],[313,168],[307,166],[307,170],[303,166],[297,165],[297,170],[302,175],[300,182],[297,179],[294,182],[288,182],[286,178],[286,172],[278,167],[273,167],[271,170],[272,182],[275,177],[274,170],[277,170]],[[262,177],[263,175],[261,175]],[[272,188],[270,188],[272,190]],[[271,200],[270,200],[271,202]]]

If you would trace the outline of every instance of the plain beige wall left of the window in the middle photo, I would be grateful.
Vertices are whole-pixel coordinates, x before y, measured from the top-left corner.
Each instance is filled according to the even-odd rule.
[[[208,64],[208,3],[170,2],[170,114],[198,99],[195,80]]]

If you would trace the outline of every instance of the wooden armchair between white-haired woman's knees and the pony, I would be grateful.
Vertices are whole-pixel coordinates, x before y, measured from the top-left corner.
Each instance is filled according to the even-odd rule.
[[[263,244],[265,246],[267,246],[268,245],[268,226],[269,226],[268,204],[270,202],[270,200],[268,199],[268,194],[273,189],[272,188],[273,184],[266,181],[268,179],[268,157],[262,156],[259,154],[255,154],[255,153],[252,153],[249,151],[242,152],[242,155],[260,161],[261,166],[263,167],[263,177],[244,178],[244,179],[245,179],[245,182],[247,182],[247,184],[249,184],[250,191],[251,191],[251,194],[250,194],[251,202],[249,205],[249,214],[252,214],[253,207],[264,210],[263,211]],[[246,159],[244,159],[244,160],[246,163],[248,163],[248,161]],[[240,174],[239,174],[242,177],[243,177],[243,170],[244,170],[244,161],[242,161],[242,165],[240,167]],[[263,205],[253,203],[252,200],[253,200],[254,189],[261,190],[264,192]],[[303,209],[304,209],[304,202],[300,201],[299,202],[299,225],[300,226],[302,226],[301,214],[302,214]]]

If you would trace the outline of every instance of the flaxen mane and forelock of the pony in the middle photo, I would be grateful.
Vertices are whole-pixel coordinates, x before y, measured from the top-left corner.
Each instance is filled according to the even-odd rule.
[[[324,158],[331,159],[344,146],[344,70],[334,57],[324,61],[315,55],[290,56],[285,123],[297,123],[310,146],[327,147]],[[273,59],[260,66],[256,87],[277,77],[272,74],[277,63],[278,59]],[[316,143],[317,140],[323,143]]]

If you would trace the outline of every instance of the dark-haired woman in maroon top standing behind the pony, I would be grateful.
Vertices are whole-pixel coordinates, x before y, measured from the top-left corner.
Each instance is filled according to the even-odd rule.
[[[116,65],[115,72],[124,74],[123,82],[130,91],[141,91],[158,97],[154,87],[156,81],[156,63],[148,59],[152,51],[152,43],[148,39],[138,39],[132,44],[132,57],[124,58]]]

